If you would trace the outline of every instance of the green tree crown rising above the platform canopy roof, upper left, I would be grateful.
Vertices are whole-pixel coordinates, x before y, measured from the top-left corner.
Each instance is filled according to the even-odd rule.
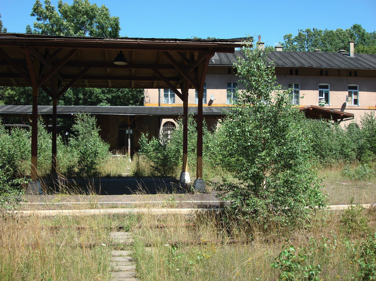
[[[98,7],[88,0],[74,0],[72,5],[58,2],[58,11],[50,0],[44,1],[44,8],[39,0],[33,6],[32,17],[36,17],[34,30],[30,25],[26,33],[38,33],[58,36],[93,36],[118,38],[120,21],[111,17],[105,5]]]

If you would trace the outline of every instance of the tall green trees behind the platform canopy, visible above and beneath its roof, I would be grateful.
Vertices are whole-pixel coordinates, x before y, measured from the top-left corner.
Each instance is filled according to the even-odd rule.
[[[90,4],[88,0],[74,0],[72,5],[58,2],[58,11],[50,0],[44,6],[36,0],[32,13],[36,17],[34,30],[30,25],[26,33],[38,33],[58,36],[95,36],[117,38],[120,31],[120,20],[111,17],[109,9],[102,5]],[[0,15],[1,17],[1,15]],[[2,22],[0,21],[2,29]],[[0,29],[0,30],[1,30]],[[6,32],[6,29],[4,29]],[[50,105],[52,99],[39,89],[39,105]],[[143,105],[143,89],[97,89],[71,88],[59,99],[58,105]],[[30,87],[0,87],[0,104],[31,105],[32,91]]]

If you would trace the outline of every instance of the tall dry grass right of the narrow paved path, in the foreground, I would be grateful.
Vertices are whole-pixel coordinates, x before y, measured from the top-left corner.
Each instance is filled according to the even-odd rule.
[[[314,275],[317,280],[358,280],[361,245],[367,233],[376,230],[376,215],[374,210],[357,213],[356,219],[365,221],[365,232],[344,231],[344,225],[354,223],[347,217],[340,211],[323,211],[304,225],[279,227],[265,234],[257,228],[252,233],[240,228],[225,229],[215,218],[192,221],[179,215],[144,216],[133,229],[139,278],[278,280],[282,270],[271,264],[292,245],[296,256],[305,255],[306,259],[292,260],[300,269],[291,271],[296,278],[290,280],[316,280],[304,278],[304,274],[310,265],[313,268],[318,264],[321,270]],[[187,222],[194,222],[195,226],[186,226]],[[232,243],[233,239],[238,243]]]

